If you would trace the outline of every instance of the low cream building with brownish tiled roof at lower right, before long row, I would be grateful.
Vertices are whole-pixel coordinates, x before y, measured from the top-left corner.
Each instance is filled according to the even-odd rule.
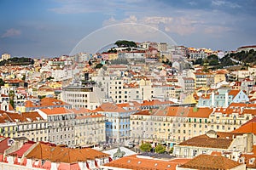
[[[253,150],[252,133],[224,133],[208,131],[206,134],[195,136],[174,146],[174,155],[177,157],[195,157],[201,154],[210,155],[212,151],[248,153]]]

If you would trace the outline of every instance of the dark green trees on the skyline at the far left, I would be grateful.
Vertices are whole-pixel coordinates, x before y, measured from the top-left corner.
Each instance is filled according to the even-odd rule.
[[[4,59],[0,62],[0,66],[2,65],[33,65],[34,59],[26,58],[26,57],[14,57],[10,59]]]

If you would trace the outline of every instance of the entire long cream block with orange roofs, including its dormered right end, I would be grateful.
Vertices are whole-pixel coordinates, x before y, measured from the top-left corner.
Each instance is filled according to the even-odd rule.
[[[131,139],[146,140],[172,147],[186,139],[207,133],[231,132],[255,116],[254,107],[196,108],[166,106],[131,115]]]

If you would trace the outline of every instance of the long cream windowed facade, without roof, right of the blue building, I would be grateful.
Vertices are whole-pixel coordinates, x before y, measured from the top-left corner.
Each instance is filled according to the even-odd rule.
[[[184,116],[131,115],[131,139],[136,142],[142,139],[156,143],[164,142],[172,147],[172,144],[178,144],[209,130],[231,132],[253,118],[251,114],[225,115],[218,110],[208,117],[189,117],[186,114],[184,110]]]

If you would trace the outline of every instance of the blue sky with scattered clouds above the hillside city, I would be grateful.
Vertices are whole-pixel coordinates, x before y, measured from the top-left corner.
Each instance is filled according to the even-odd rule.
[[[119,39],[256,45],[256,0],[0,0],[0,54],[95,53]]]

